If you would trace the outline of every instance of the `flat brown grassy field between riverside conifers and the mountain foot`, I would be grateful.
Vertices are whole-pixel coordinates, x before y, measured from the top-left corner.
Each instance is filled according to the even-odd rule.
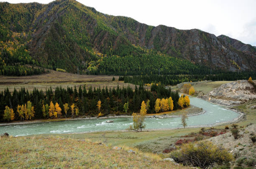
[[[115,77],[115,81],[112,78]],[[21,87],[25,87],[28,91],[32,91],[35,87],[45,91],[46,88],[52,87],[54,90],[58,87],[79,87],[85,85],[87,88],[92,87],[130,87],[134,88],[135,85],[118,81],[119,76],[108,76],[108,75],[76,75],[66,72],[57,72],[50,70],[50,73],[44,75],[33,75],[33,76],[0,76],[0,92],[6,87],[12,92],[14,87],[19,90]]]

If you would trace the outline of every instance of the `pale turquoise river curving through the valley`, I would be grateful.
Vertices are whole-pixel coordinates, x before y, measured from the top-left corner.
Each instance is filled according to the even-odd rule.
[[[205,100],[189,97],[190,104],[204,109],[204,114],[190,116],[187,119],[188,126],[212,125],[221,122],[228,122],[236,119],[239,114],[223,106],[212,104]],[[106,123],[106,120],[114,120],[113,123]],[[105,130],[124,130],[133,124],[132,118],[118,117],[109,119],[79,119],[66,120],[61,122],[43,122],[32,124],[18,124],[0,126],[0,133],[7,132],[15,137],[31,134],[64,134],[78,132],[96,132]],[[170,118],[146,118],[146,129],[172,129],[182,127],[181,117]]]

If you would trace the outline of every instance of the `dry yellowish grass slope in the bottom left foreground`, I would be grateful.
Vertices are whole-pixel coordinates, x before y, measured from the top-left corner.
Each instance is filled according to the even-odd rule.
[[[128,153],[102,144],[58,137],[1,137],[0,168],[187,168],[156,154]]]

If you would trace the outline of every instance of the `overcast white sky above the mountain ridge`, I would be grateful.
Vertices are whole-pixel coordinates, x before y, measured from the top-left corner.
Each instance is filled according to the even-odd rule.
[[[4,0],[1,0],[4,1]],[[10,3],[52,0],[7,0]],[[256,0],[77,0],[99,12],[178,29],[197,28],[256,46]]]

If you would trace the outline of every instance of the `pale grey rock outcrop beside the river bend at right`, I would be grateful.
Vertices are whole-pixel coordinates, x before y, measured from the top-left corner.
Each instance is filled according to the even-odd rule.
[[[254,87],[247,80],[238,80],[226,83],[213,89],[211,92],[200,98],[216,104],[230,106],[241,104],[248,100],[256,99]]]

